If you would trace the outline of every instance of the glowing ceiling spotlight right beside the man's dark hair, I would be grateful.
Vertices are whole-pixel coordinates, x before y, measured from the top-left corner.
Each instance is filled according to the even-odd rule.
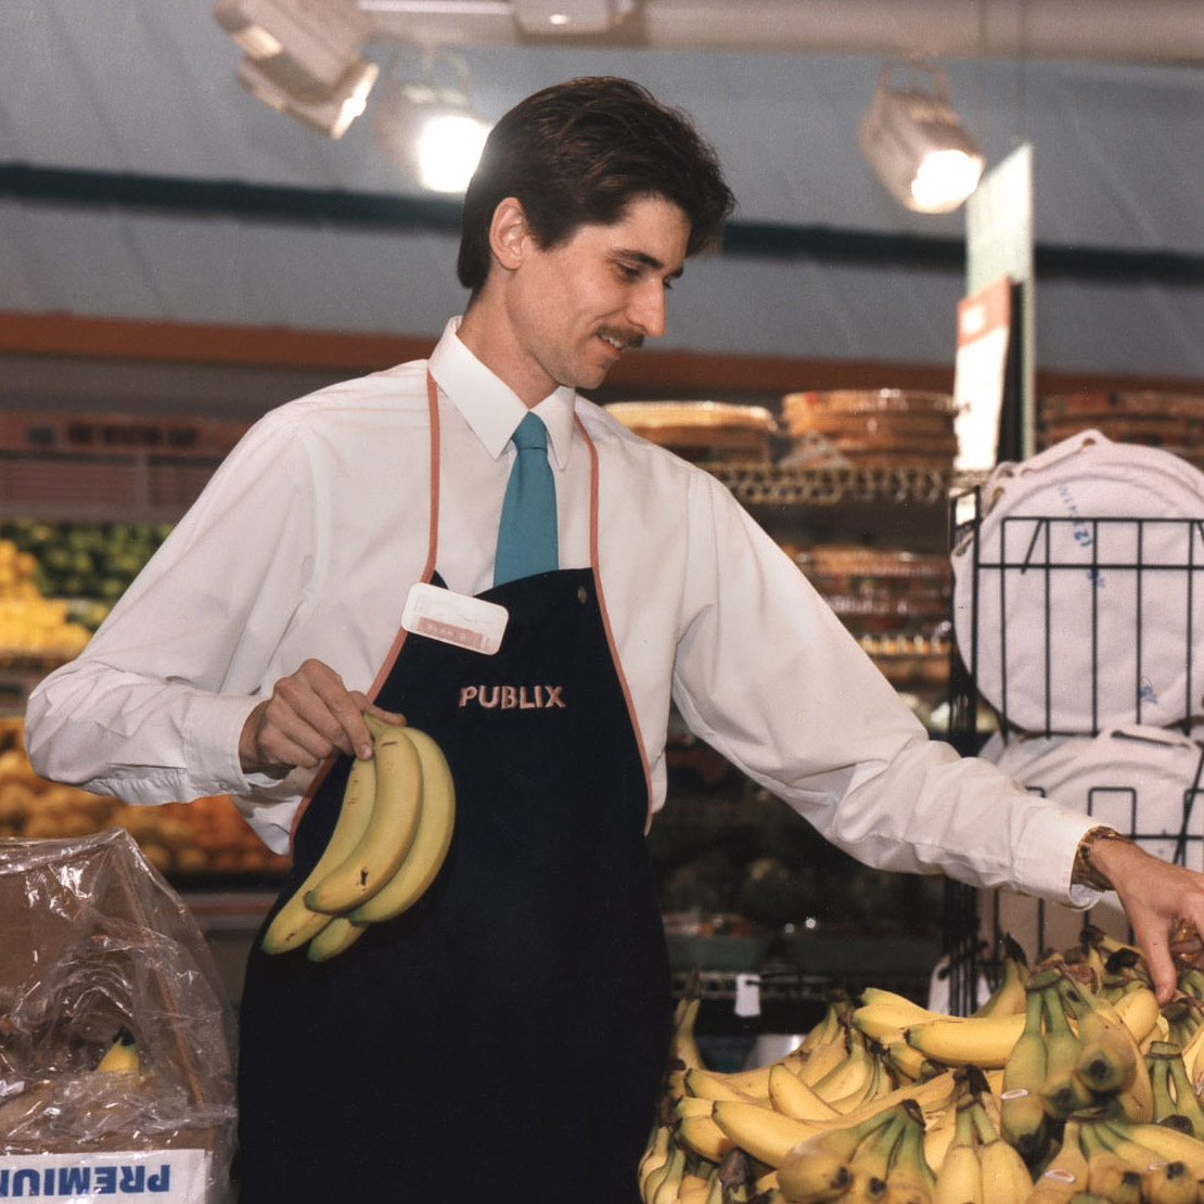
[[[439,66],[450,70],[454,85],[436,82]],[[465,190],[489,129],[472,106],[467,65],[447,51],[426,51],[417,79],[402,78],[395,61],[372,108],[380,153],[435,193]]]

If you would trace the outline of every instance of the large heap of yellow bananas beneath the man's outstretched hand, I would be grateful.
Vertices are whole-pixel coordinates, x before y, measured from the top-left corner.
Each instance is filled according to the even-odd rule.
[[[790,1054],[707,1068],[679,1001],[644,1204],[1204,1204],[1204,974],[1158,1007],[1094,928],[972,1016],[833,992]]]

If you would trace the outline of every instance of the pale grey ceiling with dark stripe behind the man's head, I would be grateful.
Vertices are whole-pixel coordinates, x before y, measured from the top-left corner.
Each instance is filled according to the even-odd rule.
[[[855,147],[883,54],[942,51],[988,161],[1034,147],[1037,241],[1063,255],[1038,279],[1038,365],[1204,380],[1204,4],[1017,4],[653,0],[624,33],[638,45],[583,45],[519,40],[513,22],[504,39],[466,41],[467,2],[425,0],[423,17],[361,0],[378,23],[368,54],[385,64],[400,51],[402,66],[418,53],[399,39],[442,8],[486,117],[595,72],[694,113],[745,234],[742,252],[691,265],[674,293],[662,344],[707,352],[950,362],[962,279],[931,252],[962,237],[963,217],[901,209]],[[437,334],[464,302],[448,223],[348,220],[340,196],[420,194],[377,154],[367,120],[331,142],[247,95],[211,7],[0,5],[0,321],[7,309]],[[503,5],[474,7],[501,28]],[[54,175],[65,170],[82,173],[78,193]],[[120,199],[126,181],[143,201]],[[305,219],[240,208],[234,194],[206,207],[185,189],[173,203],[163,182],[327,203]],[[759,246],[757,231],[787,237]]]

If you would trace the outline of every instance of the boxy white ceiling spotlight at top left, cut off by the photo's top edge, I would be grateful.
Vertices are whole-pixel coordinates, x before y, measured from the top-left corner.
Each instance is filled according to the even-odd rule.
[[[332,138],[367,105],[379,69],[364,58],[371,23],[354,0],[220,0],[217,23],[246,51],[238,82]]]

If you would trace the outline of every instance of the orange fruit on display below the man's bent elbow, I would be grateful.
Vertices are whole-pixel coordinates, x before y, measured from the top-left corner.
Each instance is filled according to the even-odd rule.
[[[136,805],[63,786],[34,773],[19,718],[0,720],[0,838],[73,839],[123,827],[165,874],[284,870],[226,795],[160,807]]]

